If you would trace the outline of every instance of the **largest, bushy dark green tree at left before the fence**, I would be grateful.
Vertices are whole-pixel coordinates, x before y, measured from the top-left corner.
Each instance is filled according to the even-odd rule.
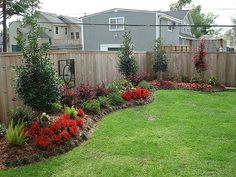
[[[16,92],[25,105],[39,112],[50,111],[60,101],[63,86],[49,57],[49,44],[39,44],[40,28],[32,20],[27,39],[17,39],[24,60],[16,68]]]

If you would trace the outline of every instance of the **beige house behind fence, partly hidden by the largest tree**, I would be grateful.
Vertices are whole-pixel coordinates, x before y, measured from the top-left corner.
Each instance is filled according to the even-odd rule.
[[[40,12],[37,22],[43,29],[40,42],[49,42],[52,50],[81,50],[81,20],[75,17],[57,16],[56,14]],[[29,27],[22,27],[21,22],[9,25],[9,51],[19,51],[16,37],[21,33],[26,36]]]

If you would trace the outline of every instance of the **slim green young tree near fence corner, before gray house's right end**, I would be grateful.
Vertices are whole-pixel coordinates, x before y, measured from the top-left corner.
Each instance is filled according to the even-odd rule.
[[[166,52],[161,48],[161,39],[159,38],[154,43],[154,64],[152,66],[154,76],[157,77],[158,74],[165,72],[167,70],[167,64]]]

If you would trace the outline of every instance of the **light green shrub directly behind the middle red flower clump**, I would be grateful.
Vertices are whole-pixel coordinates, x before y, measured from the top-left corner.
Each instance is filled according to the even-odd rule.
[[[111,92],[119,92],[121,90],[130,89],[133,85],[129,80],[120,80],[109,83],[107,87]]]

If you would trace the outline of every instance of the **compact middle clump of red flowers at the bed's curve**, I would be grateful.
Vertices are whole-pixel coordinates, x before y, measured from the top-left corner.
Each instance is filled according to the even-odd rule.
[[[125,90],[121,93],[121,96],[125,101],[135,99],[146,99],[149,95],[150,91],[148,89],[139,87],[130,90]]]

